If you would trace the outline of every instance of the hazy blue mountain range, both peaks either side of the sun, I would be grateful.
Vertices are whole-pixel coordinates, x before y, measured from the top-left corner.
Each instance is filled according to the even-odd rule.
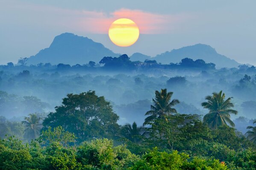
[[[51,64],[86,64],[89,61],[100,62],[103,57],[119,57],[121,54],[114,53],[99,42],[94,42],[88,37],[78,36],[72,33],[63,33],[56,36],[48,48],[40,50],[34,56],[29,57],[28,64],[47,63]],[[239,64],[234,59],[218,54],[215,48],[205,44],[185,46],[150,57],[141,53],[130,56],[131,61],[144,62],[145,59],[156,60],[162,64],[179,63],[183,58],[203,59],[212,62],[216,68],[237,67]]]

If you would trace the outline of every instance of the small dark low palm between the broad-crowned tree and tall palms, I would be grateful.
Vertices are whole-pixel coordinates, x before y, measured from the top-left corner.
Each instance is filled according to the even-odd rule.
[[[127,123],[121,129],[121,135],[132,142],[139,142],[141,140],[140,136],[148,137],[148,131],[146,127],[137,126],[135,122],[131,124]]]

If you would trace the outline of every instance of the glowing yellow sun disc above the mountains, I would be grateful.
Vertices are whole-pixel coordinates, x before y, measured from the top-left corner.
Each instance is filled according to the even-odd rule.
[[[128,47],[139,37],[139,29],[135,22],[127,18],[115,20],[109,27],[109,38],[118,46]]]

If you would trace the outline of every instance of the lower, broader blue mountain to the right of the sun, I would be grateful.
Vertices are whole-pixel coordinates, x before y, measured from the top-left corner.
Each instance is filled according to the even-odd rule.
[[[216,65],[216,68],[232,68],[241,65],[233,59],[218,54],[214,48],[205,44],[196,44],[174,49],[172,51],[166,51],[165,53],[157,55],[151,59],[155,59],[157,62],[161,62],[162,64],[169,64],[170,62],[180,62],[181,59],[186,57],[194,60],[203,59],[205,62],[213,62]]]

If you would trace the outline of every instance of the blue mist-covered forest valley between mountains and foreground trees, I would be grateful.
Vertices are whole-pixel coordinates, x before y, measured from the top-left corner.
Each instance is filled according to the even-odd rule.
[[[154,91],[167,88],[181,101],[176,106],[178,113],[205,115],[207,111],[201,106],[205,96],[222,90],[226,96],[233,97],[238,111],[233,120],[242,116],[249,125],[249,120],[255,117],[256,68],[253,66],[215,69],[205,67],[204,63],[193,65],[189,59],[176,65],[148,60],[141,62],[141,66],[126,59],[111,60],[107,65],[1,65],[1,115],[23,119],[29,113],[47,114],[61,105],[67,94],[91,90],[111,102],[120,116],[120,124],[136,121],[142,125]]]

